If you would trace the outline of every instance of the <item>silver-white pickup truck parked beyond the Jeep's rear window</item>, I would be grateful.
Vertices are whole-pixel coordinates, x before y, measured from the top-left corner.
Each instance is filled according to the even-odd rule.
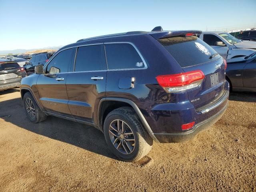
[[[256,52],[256,42],[240,40],[226,32],[202,32],[199,38],[224,59],[244,57]]]

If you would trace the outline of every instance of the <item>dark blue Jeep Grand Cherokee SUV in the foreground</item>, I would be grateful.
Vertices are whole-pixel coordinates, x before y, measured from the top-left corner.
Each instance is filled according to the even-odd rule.
[[[228,105],[226,62],[200,33],[156,28],[64,46],[22,79],[26,114],[35,123],[53,115],[94,126],[129,162],[153,141],[188,140]]]

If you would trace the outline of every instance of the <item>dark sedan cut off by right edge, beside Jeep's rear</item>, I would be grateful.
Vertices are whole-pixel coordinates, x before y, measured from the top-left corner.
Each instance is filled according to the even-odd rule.
[[[227,60],[226,79],[234,91],[256,92],[256,53]]]

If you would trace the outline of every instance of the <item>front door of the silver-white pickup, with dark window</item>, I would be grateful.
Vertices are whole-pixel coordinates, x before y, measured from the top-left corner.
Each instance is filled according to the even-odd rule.
[[[224,59],[227,58],[228,46],[218,36],[214,34],[203,34],[203,41],[216,50]],[[222,42],[224,46],[217,46],[216,42]]]

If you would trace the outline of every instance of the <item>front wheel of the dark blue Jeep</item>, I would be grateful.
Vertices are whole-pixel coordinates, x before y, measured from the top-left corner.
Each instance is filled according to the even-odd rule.
[[[33,123],[42,122],[47,118],[46,114],[40,110],[30,92],[26,92],[23,97],[23,104],[28,119]]]

